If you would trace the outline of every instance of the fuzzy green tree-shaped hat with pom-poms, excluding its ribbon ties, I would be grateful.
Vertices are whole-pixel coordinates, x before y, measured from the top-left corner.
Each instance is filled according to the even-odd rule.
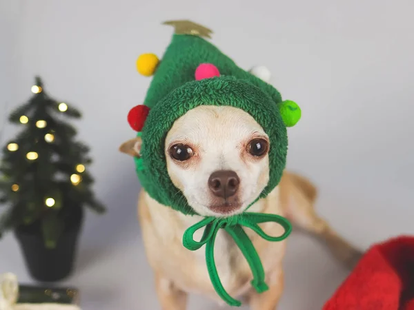
[[[175,120],[188,110],[198,105],[231,105],[252,115],[270,137],[270,180],[264,193],[270,192],[282,176],[286,127],[299,121],[299,107],[293,101],[282,101],[275,87],[239,68],[200,37],[209,34],[206,28],[188,21],[170,23],[176,32],[161,61],[154,54],[143,54],[137,60],[141,74],[154,74],[144,105],[128,114],[131,127],[142,138],[141,157],[135,159],[141,185],[159,203],[195,214],[186,198],[177,195],[168,176],[164,139]]]

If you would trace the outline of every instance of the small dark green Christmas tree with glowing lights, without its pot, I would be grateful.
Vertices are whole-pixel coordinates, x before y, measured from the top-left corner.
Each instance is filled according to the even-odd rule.
[[[87,165],[89,149],[75,141],[74,127],[64,118],[80,118],[75,107],[52,99],[36,77],[34,95],[9,116],[23,130],[3,147],[0,163],[0,234],[38,225],[46,247],[55,247],[75,208],[101,213]]]

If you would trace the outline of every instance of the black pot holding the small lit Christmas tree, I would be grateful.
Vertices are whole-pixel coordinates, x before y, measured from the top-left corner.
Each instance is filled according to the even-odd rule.
[[[41,282],[54,282],[63,280],[72,273],[82,223],[83,209],[71,208],[71,214],[66,219],[66,229],[53,249],[45,247],[40,223],[14,230],[32,278]]]

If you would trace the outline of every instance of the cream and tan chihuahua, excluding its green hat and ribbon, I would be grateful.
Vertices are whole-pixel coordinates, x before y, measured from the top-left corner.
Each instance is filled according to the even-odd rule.
[[[221,302],[210,282],[204,251],[186,249],[182,236],[201,216],[230,216],[246,210],[246,202],[259,196],[268,183],[269,147],[263,128],[235,107],[201,105],[175,121],[165,140],[168,174],[200,216],[186,216],[160,205],[144,190],[138,206],[146,256],[163,310],[186,309],[188,293]],[[140,148],[141,138],[137,137],[119,149],[140,156]],[[306,178],[284,172],[279,185],[249,211],[285,216],[293,225],[324,240],[339,260],[353,266],[361,253],[315,213],[316,196],[315,187]],[[274,223],[260,226],[271,236],[283,233]],[[203,231],[197,233],[195,240]],[[250,287],[250,267],[225,231],[219,231],[215,243],[221,282],[230,295],[245,300],[250,309],[274,310],[284,287],[282,259],[286,242],[268,242],[250,229],[246,233],[262,260],[268,291],[259,294]]]

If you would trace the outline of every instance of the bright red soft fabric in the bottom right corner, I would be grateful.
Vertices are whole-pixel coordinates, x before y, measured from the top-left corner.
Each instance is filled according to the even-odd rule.
[[[414,310],[414,237],[371,247],[322,310]]]

